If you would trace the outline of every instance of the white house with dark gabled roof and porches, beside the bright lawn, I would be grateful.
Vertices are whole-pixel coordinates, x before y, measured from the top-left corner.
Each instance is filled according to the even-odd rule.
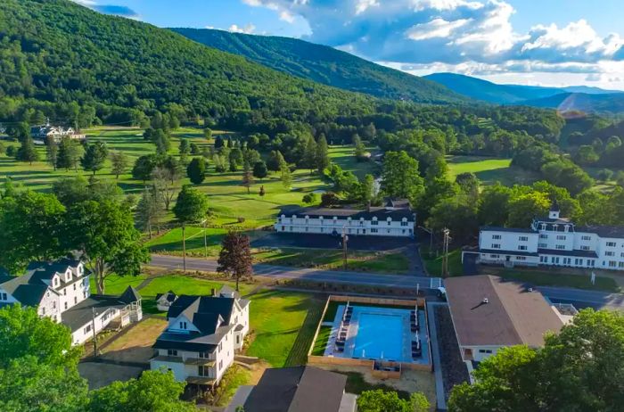
[[[249,307],[250,301],[226,286],[211,296],[179,296],[153,345],[152,370],[168,369],[177,381],[218,384],[249,332]]]

